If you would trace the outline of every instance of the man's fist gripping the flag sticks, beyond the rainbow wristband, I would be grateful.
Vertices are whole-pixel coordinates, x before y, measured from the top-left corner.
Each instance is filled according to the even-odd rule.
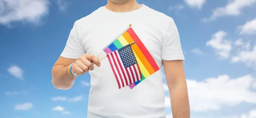
[[[78,75],[84,75],[84,73],[87,73],[89,70],[93,70],[94,66],[92,64],[94,62],[98,67],[100,67],[99,58],[91,55],[91,54],[84,54],[80,56],[76,62],[71,67],[71,73],[78,73]]]

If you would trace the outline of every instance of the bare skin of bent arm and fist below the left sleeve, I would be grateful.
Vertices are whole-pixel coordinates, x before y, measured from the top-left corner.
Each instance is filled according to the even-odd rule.
[[[74,63],[75,62],[75,63]],[[67,73],[68,66],[74,63],[71,67],[71,73],[84,75],[89,70],[93,70],[94,62],[98,67],[100,66],[99,58],[91,54],[83,54],[78,59],[69,59],[59,57],[55,65],[52,67],[52,84],[56,89],[67,90],[70,89],[76,79],[75,76],[70,76]]]

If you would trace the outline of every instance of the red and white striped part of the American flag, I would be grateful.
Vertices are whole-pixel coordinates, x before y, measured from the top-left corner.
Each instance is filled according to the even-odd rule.
[[[125,68],[118,51],[107,55],[119,89],[142,79],[138,63]]]

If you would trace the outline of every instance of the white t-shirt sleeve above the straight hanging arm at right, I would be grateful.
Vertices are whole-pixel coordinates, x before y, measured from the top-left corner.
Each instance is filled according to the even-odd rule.
[[[183,51],[180,44],[180,36],[177,26],[172,18],[170,18],[167,30],[163,37],[161,58],[163,60],[184,60]]]

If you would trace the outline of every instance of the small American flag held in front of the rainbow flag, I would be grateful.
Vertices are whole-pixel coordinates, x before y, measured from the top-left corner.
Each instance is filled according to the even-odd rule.
[[[142,79],[140,67],[131,45],[113,51],[107,55],[119,89]]]

